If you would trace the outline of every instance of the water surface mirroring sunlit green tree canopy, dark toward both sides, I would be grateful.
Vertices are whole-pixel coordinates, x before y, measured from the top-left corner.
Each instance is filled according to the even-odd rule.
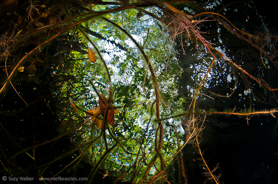
[[[51,3],[47,6],[54,7]],[[132,4],[138,10],[123,7],[119,10],[123,13],[118,11],[107,14],[104,20],[94,18],[80,25],[80,30],[74,28],[53,39],[49,46],[40,47],[31,54],[30,59],[22,62],[25,73],[23,71],[16,76],[11,74],[13,65],[25,53],[65,27],[60,25],[49,29],[49,33],[44,31],[39,35],[34,34],[34,38],[27,37],[26,42],[15,40],[21,43],[18,50],[22,51],[17,53],[10,50],[7,61],[1,58],[1,67],[11,65],[10,69],[5,67],[1,76],[6,78],[7,73],[12,76],[11,82],[15,83],[15,89],[28,107],[12,88],[2,91],[6,92],[5,98],[2,98],[0,120],[2,137],[12,137],[12,142],[9,138],[1,142],[1,161],[6,168],[4,174],[84,177],[84,173],[87,173],[86,176],[94,174],[90,173],[91,166],[99,166],[99,173],[104,176],[115,175],[112,178],[114,181],[123,179],[140,182],[145,179],[145,182],[154,182],[159,178],[157,182],[179,183],[181,180],[183,183],[202,183],[206,178],[211,178],[215,182],[222,171],[220,181],[225,183],[270,183],[277,170],[276,156],[273,155],[277,151],[274,144],[277,142],[276,120],[273,118],[276,114],[272,110],[273,116],[270,115],[270,109],[274,109],[277,104],[276,91],[271,90],[277,88],[277,66],[276,37],[265,37],[275,33],[267,18],[261,17],[259,8],[251,2],[238,2],[224,8],[224,2],[201,2],[198,6],[194,3],[171,4],[179,10],[185,6],[185,12],[192,15],[204,13],[203,8],[206,8],[207,12],[221,14],[230,22],[217,14],[201,14],[200,20],[212,15],[206,18],[209,21],[198,22],[199,16],[192,21],[191,17],[175,16],[171,11],[173,8],[170,10],[161,3],[156,6],[147,4],[149,7],[144,10],[141,9],[144,8],[142,3]],[[28,12],[34,13],[28,16],[36,21],[29,21],[28,26],[35,31],[32,26],[47,25],[52,16],[63,21],[82,11],[89,12],[91,8],[95,11],[110,11],[111,8],[122,7],[113,7],[114,2],[94,4],[106,6],[59,4],[61,11],[65,12],[63,16],[52,9],[39,11],[31,6]],[[44,7],[36,5],[42,9]],[[72,7],[79,8],[79,12]],[[55,15],[45,14],[47,10]],[[35,14],[41,17],[34,19]],[[77,23],[81,19],[79,17],[70,21]],[[64,23],[72,25],[72,22]],[[27,26],[24,23],[19,25]],[[19,30],[14,32],[18,33]],[[85,32],[91,36],[82,36]],[[27,32],[25,34],[28,35]],[[134,44],[131,44],[132,38],[136,38]],[[194,38],[198,40],[198,48]],[[109,47],[105,46],[107,42],[111,43]],[[96,53],[100,50],[103,55],[109,55],[110,60],[102,64],[101,57],[97,56],[98,62],[87,62],[88,46],[94,49],[94,44]],[[5,54],[3,56],[7,57]],[[36,69],[32,70],[29,63],[35,65]],[[109,134],[90,126],[87,118],[80,113],[98,106],[97,96],[93,90],[88,90],[90,85],[84,79],[92,79],[96,88],[107,98],[113,98],[115,106],[120,107],[120,113],[115,114],[115,125],[108,129]],[[9,84],[2,82],[7,86]],[[109,85],[110,82],[113,86]],[[80,108],[78,114],[70,108],[69,97]],[[113,101],[110,99],[107,99],[110,103],[108,111],[112,108]],[[11,106],[11,102],[16,102],[16,107]],[[261,112],[261,115],[254,116],[252,113],[255,112]],[[267,112],[267,116],[262,115],[264,112]],[[213,113],[234,114],[227,116]],[[105,122],[105,110],[101,114],[99,121]],[[180,114],[183,115],[178,116]],[[166,120],[159,122],[154,120],[155,117]],[[174,124],[177,126],[176,132],[173,131],[176,128]],[[185,135],[181,134],[180,125]],[[160,135],[162,130],[163,134]],[[180,169],[182,161],[179,153],[174,161],[172,157],[177,152],[176,134],[183,147],[184,169]],[[65,137],[70,138],[73,144],[69,145]],[[119,141],[122,139],[126,140]],[[12,149],[4,149],[4,145]],[[111,150],[113,146],[116,147]],[[45,150],[51,150],[51,153],[45,156]],[[14,158],[18,164],[6,155],[16,155]],[[107,155],[107,158],[103,159],[103,155]],[[84,159],[79,162],[82,157],[91,166]],[[66,167],[71,162],[73,164]],[[213,171],[217,163],[220,168],[215,170],[212,178],[208,169]],[[27,172],[23,172],[23,169]]]

